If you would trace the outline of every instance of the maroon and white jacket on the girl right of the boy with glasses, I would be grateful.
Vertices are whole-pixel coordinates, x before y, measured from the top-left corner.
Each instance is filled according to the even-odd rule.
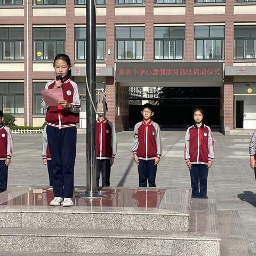
[[[190,126],[185,137],[184,158],[191,164],[207,164],[214,159],[214,139],[209,126]]]

